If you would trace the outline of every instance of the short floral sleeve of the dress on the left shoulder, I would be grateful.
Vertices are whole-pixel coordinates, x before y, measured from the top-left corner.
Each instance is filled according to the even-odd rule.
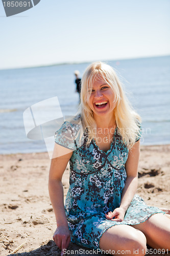
[[[65,121],[55,133],[55,142],[69,150],[75,151],[84,142],[80,141],[80,124]]]

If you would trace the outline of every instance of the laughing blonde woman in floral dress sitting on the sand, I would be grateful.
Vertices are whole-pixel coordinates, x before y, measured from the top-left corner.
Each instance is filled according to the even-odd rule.
[[[49,191],[56,215],[54,241],[71,241],[112,254],[144,255],[146,243],[170,249],[170,220],[135,195],[140,118],[132,111],[114,70],[92,63],[84,72],[80,115],[56,132]],[[70,162],[63,203],[62,175]]]

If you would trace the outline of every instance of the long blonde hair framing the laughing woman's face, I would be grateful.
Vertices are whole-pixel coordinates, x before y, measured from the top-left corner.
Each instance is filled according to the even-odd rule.
[[[113,115],[115,116],[117,130],[119,135],[122,136],[123,142],[128,148],[131,148],[140,133],[140,117],[132,109],[113,68],[101,61],[89,65],[82,76],[79,112],[83,128],[88,131],[87,145],[92,139],[97,139],[96,122],[88,104],[95,78],[105,81],[113,90],[116,102]]]

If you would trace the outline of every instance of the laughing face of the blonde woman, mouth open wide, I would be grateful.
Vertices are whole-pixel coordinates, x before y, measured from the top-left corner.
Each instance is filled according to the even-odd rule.
[[[113,113],[116,106],[115,95],[106,81],[94,79],[88,104],[94,118],[97,116],[107,117]]]

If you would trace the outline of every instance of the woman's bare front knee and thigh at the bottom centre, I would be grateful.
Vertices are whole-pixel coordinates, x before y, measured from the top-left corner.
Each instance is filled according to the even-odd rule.
[[[100,248],[113,255],[145,255],[147,241],[144,234],[128,225],[117,225],[107,229],[100,239]]]

